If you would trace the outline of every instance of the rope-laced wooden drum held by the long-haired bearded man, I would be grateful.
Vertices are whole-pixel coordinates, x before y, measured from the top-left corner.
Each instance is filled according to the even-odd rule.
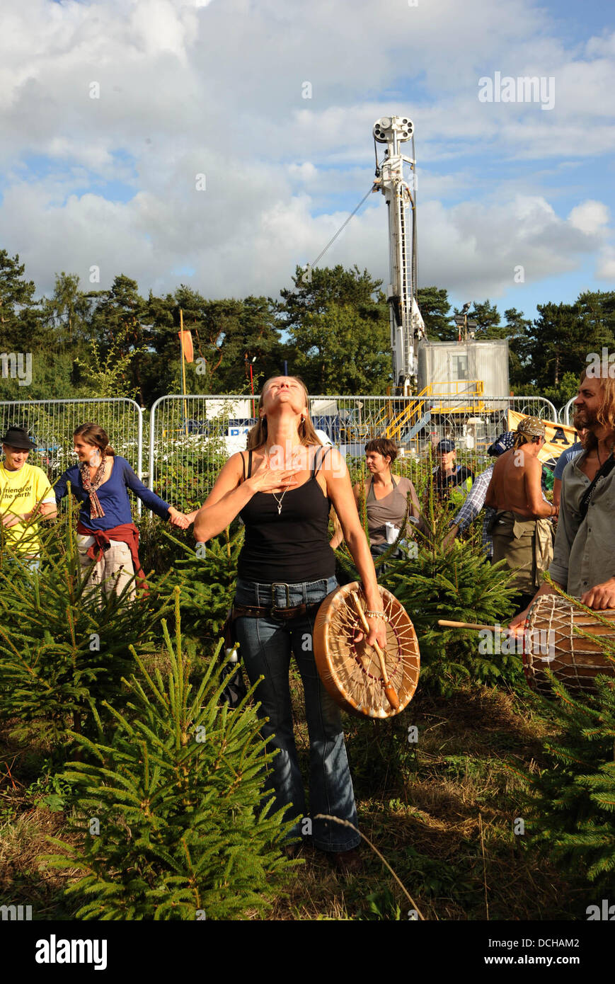
[[[549,669],[571,693],[594,691],[598,674],[615,676],[615,660],[604,654],[600,639],[611,644],[615,655],[615,609],[589,615],[559,594],[541,594],[524,625],[523,669],[528,684],[551,696],[544,673]]]

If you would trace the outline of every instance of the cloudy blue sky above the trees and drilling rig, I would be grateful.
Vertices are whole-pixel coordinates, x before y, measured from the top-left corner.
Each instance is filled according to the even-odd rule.
[[[612,287],[596,0],[30,0],[0,56],[0,246],[41,291],[62,270],[88,288],[95,265],[146,295],[277,296],[370,187],[392,113],[415,127],[419,285],[528,317]],[[554,79],[553,108],[481,102],[497,72]],[[381,195],[322,262],[386,279]]]

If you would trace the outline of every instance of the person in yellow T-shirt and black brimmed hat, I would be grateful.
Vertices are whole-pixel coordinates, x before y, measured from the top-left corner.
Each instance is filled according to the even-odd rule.
[[[38,569],[39,519],[56,515],[55,494],[42,468],[29,464],[35,445],[24,427],[9,427],[2,438],[4,461],[0,462],[0,520],[15,559],[31,570]]]

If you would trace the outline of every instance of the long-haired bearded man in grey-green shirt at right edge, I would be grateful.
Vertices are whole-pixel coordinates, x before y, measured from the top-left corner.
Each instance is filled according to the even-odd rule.
[[[588,608],[615,608],[615,380],[581,375],[574,424],[586,428],[584,451],[569,461],[562,476],[562,497],[553,562],[549,574]],[[542,584],[534,595],[553,593]],[[534,600],[532,598],[532,601]],[[527,608],[511,628],[523,629]]]

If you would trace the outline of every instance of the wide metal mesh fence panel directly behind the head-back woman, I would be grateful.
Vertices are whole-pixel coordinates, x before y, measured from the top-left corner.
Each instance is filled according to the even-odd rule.
[[[246,446],[256,422],[257,400],[246,397],[167,396],[156,400],[150,418],[149,482],[180,509],[194,509],[212,489],[223,462]],[[365,442],[385,435],[400,446],[398,470],[421,483],[442,438],[455,440],[458,461],[475,472],[490,460],[486,450],[508,430],[508,410],[557,421],[555,406],[542,397],[491,398],[460,394],[424,398],[318,396],[310,416],[349,465],[362,459]],[[353,476],[356,467],[352,466]]]

